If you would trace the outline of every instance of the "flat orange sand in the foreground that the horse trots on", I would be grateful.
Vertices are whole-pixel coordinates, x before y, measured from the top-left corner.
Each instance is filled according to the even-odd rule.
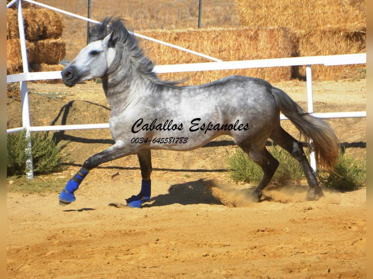
[[[67,207],[8,194],[8,278],[366,276],[365,188],[232,208],[202,181],[158,180],[143,209],[109,206],[138,191],[126,180],[90,181]]]

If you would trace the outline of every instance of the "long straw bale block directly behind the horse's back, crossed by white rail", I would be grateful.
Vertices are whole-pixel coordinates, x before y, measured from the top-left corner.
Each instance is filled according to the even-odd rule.
[[[223,61],[291,57],[296,52],[294,34],[286,28],[148,30],[140,33]],[[149,51],[149,57],[156,61],[157,65],[211,62],[206,58],[148,40],[142,40],[141,44]],[[229,70],[228,73],[225,70],[170,73],[163,74],[162,78],[181,80],[190,77],[186,84],[195,85],[222,78],[227,74],[256,76],[278,82],[291,79],[292,69],[277,67]]]

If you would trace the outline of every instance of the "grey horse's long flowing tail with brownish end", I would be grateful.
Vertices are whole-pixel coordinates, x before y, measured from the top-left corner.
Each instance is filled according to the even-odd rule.
[[[272,95],[282,113],[297,127],[305,140],[312,139],[310,151],[316,161],[326,170],[333,170],[339,157],[336,133],[324,121],[305,112],[284,91],[273,87]]]

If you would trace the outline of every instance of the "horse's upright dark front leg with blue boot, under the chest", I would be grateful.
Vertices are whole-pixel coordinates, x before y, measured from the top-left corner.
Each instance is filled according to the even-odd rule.
[[[132,195],[126,199],[127,205],[131,208],[141,208],[143,203],[149,201],[151,194],[151,152],[150,149],[141,149],[137,153],[141,169],[141,190],[137,195]]]

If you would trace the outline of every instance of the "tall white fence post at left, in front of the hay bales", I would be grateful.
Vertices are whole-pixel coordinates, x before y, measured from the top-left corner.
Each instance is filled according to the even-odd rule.
[[[23,64],[23,72],[29,72],[28,61],[27,61],[27,50],[26,50],[26,39],[23,27],[23,15],[22,15],[22,4],[21,0],[17,1],[17,12],[18,12],[18,26],[19,26],[19,42],[21,44],[21,56]],[[22,126],[26,130],[26,141],[27,147],[25,153],[27,155],[26,160],[26,177],[28,179],[34,178],[34,166],[32,159],[32,142],[31,142],[31,132],[30,132],[30,108],[29,108],[29,98],[27,90],[27,80],[20,81],[20,91],[21,91],[21,106],[22,106]]]

